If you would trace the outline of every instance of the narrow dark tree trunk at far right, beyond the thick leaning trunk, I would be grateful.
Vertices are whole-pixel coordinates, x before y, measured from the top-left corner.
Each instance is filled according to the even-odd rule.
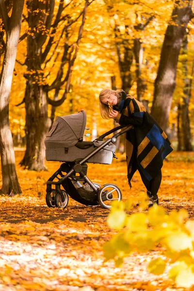
[[[187,53],[188,53],[188,37],[187,34],[183,39],[183,54],[186,54],[186,58],[183,61],[184,69],[184,89],[183,89],[183,104],[182,104],[182,136],[183,136],[183,150],[192,151],[192,136],[191,136],[191,127],[190,127],[190,118],[189,118],[189,102],[191,98],[191,88],[192,88],[192,79],[188,78],[188,67],[187,67]],[[193,76],[193,67],[192,67],[192,76]]]

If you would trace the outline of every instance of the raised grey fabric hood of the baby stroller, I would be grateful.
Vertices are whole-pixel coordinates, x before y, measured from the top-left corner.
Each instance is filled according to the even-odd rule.
[[[66,116],[58,116],[46,136],[45,146],[75,146],[79,139],[83,138],[85,126],[86,113],[84,111]]]

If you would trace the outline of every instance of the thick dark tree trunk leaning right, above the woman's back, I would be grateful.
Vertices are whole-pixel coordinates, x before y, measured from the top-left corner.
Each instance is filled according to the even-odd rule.
[[[163,130],[167,128],[169,112],[175,89],[178,55],[189,20],[193,17],[193,0],[177,0],[167,27],[157,78],[154,86],[154,99],[151,115]],[[173,21],[173,23],[172,23]]]

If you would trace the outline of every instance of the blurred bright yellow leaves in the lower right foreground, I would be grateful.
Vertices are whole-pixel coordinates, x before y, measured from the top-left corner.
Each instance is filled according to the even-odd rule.
[[[112,210],[108,222],[116,212],[118,212],[116,215],[118,217],[119,211]],[[134,251],[146,252],[160,243],[166,249],[165,255],[171,259],[171,263],[177,262],[170,270],[169,277],[174,279],[180,287],[189,288],[194,284],[194,221],[187,221],[185,224],[185,219],[188,218],[186,210],[172,211],[167,215],[162,207],[154,205],[147,213],[131,214],[125,220],[123,217],[122,210],[121,218],[118,217],[114,223],[117,226],[118,221],[122,220],[120,227],[115,227],[115,229],[120,229],[122,225],[125,228],[107,243],[107,245],[112,245],[111,253],[109,249],[104,249],[105,257],[107,257],[107,253],[109,254],[107,259],[114,259],[115,262],[118,262],[120,238],[121,242],[125,238],[125,243],[128,244],[127,251],[122,249],[121,258],[128,256],[129,250],[130,253]],[[152,227],[150,228],[149,225]],[[121,265],[122,261],[119,262]],[[165,266],[165,260],[157,258],[149,263],[148,270],[152,274],[161,275]],[[187,278],[186,282],[185,277]]]

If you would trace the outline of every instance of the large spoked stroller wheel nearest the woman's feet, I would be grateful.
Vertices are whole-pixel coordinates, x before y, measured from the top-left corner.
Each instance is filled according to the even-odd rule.
[[[111,208],[111,202],[122,199],[121,190],[114,184],[105,184],[99,191],[98,202],[104,208]]]

